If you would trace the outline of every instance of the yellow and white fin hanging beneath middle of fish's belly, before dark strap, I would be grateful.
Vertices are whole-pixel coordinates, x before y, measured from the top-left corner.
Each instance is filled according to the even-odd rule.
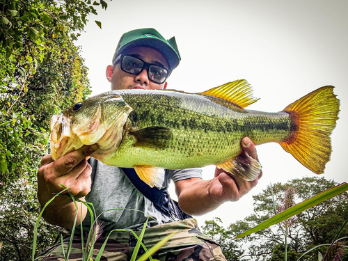
[[[152,166],[134,166],[136,174],[150,187],[161,189],[164,182],[164,169]]]

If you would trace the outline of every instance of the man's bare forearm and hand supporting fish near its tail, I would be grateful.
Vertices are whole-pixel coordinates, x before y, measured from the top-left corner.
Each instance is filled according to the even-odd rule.
[[[254,143],[244,138],[241,142],[242,150],[253,159],[258,160]],[[262,176],[253,181],[246,181],[242,177],[231,175],[216,168],[212,180],[201,180],[193,177],[175,182],[175,191],[181,209],[187,214],[201,215],[216,209],[226,201],[237,201],[250,191]]]

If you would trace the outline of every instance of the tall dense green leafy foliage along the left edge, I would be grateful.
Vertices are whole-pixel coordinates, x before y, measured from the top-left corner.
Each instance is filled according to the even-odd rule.
[[[40,212],[36,172],[47,154],[53,114],[90,94],[74,46],[93,6],[103,0],[0,1],[0,260],[27,260]],[[42,223],[38,251],[57,228]]]

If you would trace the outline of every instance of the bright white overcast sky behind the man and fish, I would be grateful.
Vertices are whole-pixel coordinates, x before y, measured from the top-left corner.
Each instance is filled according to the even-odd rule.
[[[175,36],[182,57],[168,88],[201,92],[246,79],[261,99],[248,109],[281,111],[319,87],[335,86],[340,120],[333,130],[331,161],[323,175],[347,182],[348,1],[108,1],[106,11],[91,16],[77,45],[89,68],[93,95],[109,90],[105,68],[122,33],[153,27],[165,38]],[[94,20],[102,22],[102,30]],[[252,196],[275,182],[315,174],[280,145],[258,146],[262,179],[237,203],[224,203],[204,216],[200,226],[219,216],[223,226],[253,212]],[[203,171],[208,180],[214,166]],[[171,194],[174,195],[173,187]],[[173,197],[175,198],[175,197]]]

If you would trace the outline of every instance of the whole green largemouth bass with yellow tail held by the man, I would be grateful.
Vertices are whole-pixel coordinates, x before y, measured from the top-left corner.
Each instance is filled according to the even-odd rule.
[[[331,157],[330,136],[340,111],[333,88],[318,88],[275,113],[245,109],[258,100],[246,80],[202,93],[112,90],[52,116],[51,155],[56,160],[97,144],[91,157],[134,168],[150,187],[161,187],[163,169],[207,165],[255,180],[262,166],[240,145],[249,137],[255,145],[279,143],[321,174]]]

